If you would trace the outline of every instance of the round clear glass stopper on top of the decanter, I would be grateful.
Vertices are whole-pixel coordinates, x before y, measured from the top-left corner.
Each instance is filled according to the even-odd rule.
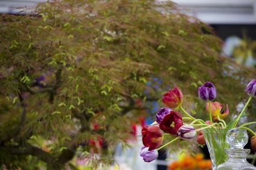
[[[231,149],[243,149],[248,142],[248,134],[244,129],[230,129],[226,134],[226,140]]]

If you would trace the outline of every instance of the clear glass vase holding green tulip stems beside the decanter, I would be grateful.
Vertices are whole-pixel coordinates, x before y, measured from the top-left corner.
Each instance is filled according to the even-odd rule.
[[[216,170],[219,164],[227,161],[228,159],[228,155],[225,153],[225,148],[228,148],[226,133],[227,130],[221,128],[208,128],[203,130],[213,170]]]

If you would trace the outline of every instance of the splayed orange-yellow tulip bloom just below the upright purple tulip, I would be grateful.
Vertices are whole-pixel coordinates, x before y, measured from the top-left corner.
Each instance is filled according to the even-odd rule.
[[[210,102],[211,104],[211,115],[214,118],[214,121],[218,121],[218,115],[220,119],[224,119],[229,114],[228,104],[226,105],[226,109],[224,111],[223,105],[219,102]],[[209,104],[206,103],[206,109],[209,112]]]

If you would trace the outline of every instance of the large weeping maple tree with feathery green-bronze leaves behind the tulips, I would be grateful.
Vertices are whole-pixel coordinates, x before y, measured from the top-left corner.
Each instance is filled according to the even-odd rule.
[[[237,106],[255,76],[169,1],[51,1],[0,22],[2,168],[72,167],[77,153],[111,163],[130,125],[169,88],[179,86],[186,107],[204,117],[198,86],[213,82],[219,101]],[[103,149],[91,152],[99,139]]]

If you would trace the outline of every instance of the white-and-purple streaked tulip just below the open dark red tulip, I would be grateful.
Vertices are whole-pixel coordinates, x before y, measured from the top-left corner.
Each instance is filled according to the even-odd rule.
[[[181,126],[177,132],[178,137],[185,140],[194,138],[195,134],[195,128],[189,124]]]

